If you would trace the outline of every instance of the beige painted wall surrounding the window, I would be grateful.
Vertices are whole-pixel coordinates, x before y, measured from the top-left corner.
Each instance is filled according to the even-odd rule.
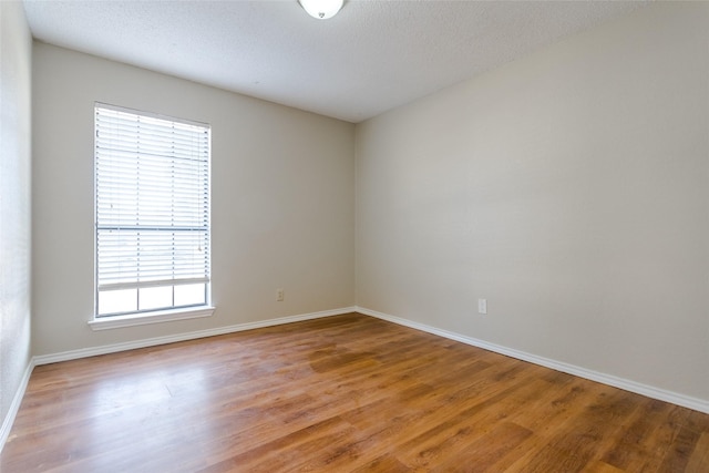
[[[352,124],[43,43],[33,58],[34,354],[353,305]],[[212,125],[213,317],[86,325],[94,101]]]

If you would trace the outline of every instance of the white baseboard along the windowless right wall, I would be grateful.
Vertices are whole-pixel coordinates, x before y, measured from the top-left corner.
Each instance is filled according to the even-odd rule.
[[[440,337],[444,337],[450,340],[460,341],[462,343],[471,345],[473,347],[482,348],[484,350],[494,351],[496,353],[516,358],[517,360],[528,361],[531,363],[551,368],[556,371],[562,371],[568,374],[574,374],[592,381],[600,382],[603,384],[608,384],[614,388],[619,388],[626,391],[635,392],[636,394],[646,395],[648,398],[657,399],[665,402],[671,402],[672,404],[681,405],[688,409],[693,409],[695,411],[709,413],[709,401],[707,400],[692,398],[692,397],[680,394],[672,391],[667,391],[665,389],[655,388],[653,385],[643,384],[639,382],[614,377],[610,374],[599,373],[597,371],[588,370],[574,364],[564,363],[562,361],[556,361],[548,358],[538,357],[536,354],[527,353],[524,351],[514,350],[507,347],[502,347],[500,345],[490,343],[472,337],[466,337],[460,333],[427,326],[424,323],[407,320],[401,317],[394,317],[388,313],[378,312],[376,310],[366,309],[363,307],[356,307],[354,310],[366,316],[376,317],[378,319],[387,320],[400,326],[421,330],[428,333],[438,335]]]

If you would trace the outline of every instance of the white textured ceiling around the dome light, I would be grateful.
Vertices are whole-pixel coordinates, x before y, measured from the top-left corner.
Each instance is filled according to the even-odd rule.
[[[24,0],[38,40],[354,123],[643,4]]]

